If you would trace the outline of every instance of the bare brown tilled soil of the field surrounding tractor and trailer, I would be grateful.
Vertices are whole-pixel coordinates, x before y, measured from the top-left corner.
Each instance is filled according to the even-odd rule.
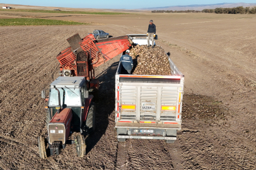
[[[96,69],[96,132],[86,139],[86,156],[76,157],[74,145],[68,145],[59,156],[40,159],[37,137],[46,132],[47,105],[40,91],[58,76],[55,56],[68,47],[66,38],[85,37],[94,29],[112,36],[146,33],[151,18],[157,44],[185,74],[182,130],[175,144],[117,142],[119,56]],[[256,169],[255,15],[86,15],[72,20],[105,25],[0,27],[0,169]]]

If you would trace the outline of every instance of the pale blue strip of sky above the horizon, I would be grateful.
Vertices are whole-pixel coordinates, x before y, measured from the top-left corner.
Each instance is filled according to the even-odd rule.
[[[241,0],[138,0],[138,1],[120,1],[120,0],[4,0],[0,3],[6,4],[24,4],[32,6],[55,6],[55,7],[70,7],[70,8],[108,8],[108,9],[138,9],[151,8],[162,6],[178,6],[190,4],[216,4],[216,3],[256,3],[255,0],[241,1]]]

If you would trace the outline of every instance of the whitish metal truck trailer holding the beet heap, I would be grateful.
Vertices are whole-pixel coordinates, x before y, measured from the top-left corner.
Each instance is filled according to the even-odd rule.
[[[144,45],[146,35],[128,35]],[[160,139],[173,143],[182,126],[184,75],[168,57],[171,76],[115,74],[115,128],[117,139]]]

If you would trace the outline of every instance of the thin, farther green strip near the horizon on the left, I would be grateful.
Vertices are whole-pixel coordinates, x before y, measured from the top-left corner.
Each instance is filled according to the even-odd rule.
[[[0,9],[0,11],[17,11],[30,13],[64,13],[64,14],[127,14],[127,13],[110,13],[110,12],[89,12],[89,11],[54,11],[54,10],[40,10],[40,9]]]

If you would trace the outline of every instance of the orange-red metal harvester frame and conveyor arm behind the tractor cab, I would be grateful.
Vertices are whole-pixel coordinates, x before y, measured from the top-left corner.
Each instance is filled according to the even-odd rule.
[[[86,53],[87,61],[76,61],[76,55],[72,52],[71,47],[57,55],[57,60],[61,64],[61,71],[68,69],[74,71],[74,76],[84,76],[90,79],[95,77],[95,67],[102,65],[131,47],[128,36],[98,40],[98,43],[96,43],[92,34],[84,37],[79,45]]]

